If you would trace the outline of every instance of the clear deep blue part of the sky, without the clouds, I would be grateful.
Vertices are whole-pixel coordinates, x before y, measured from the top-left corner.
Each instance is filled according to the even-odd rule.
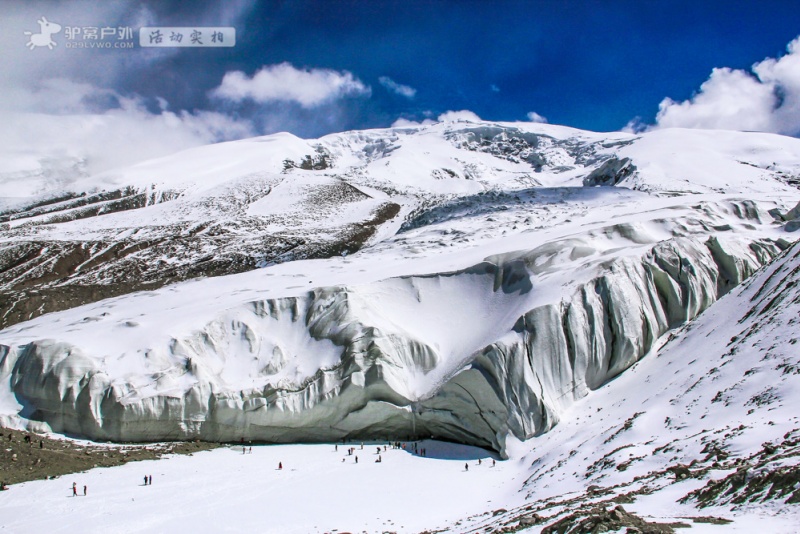
[[[152,5],[160,23],[193,22],[160,5]],[[664,97],[689,98],[714,67],[747,69],[785,52],[800,34],[800,9],[791,1],[259,2],[238,26],[235,48],[186,50],[151,67],[172,75],[126,89],[208,107],[206,93],[226,71],[288,61],[346,70],[373,88],[349,103],[345,128],[469,109],[616,130],[634,117],[652,122]],[[381,90],[381,76],[415,97]]]

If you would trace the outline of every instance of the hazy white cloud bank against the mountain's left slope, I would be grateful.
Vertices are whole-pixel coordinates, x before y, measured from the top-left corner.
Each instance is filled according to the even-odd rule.
[[[112,109],[107,109],[109,101],[115,104]],[[61,167],[76,161],[84,162],[84,171],[92,174],[193,146],[256,135],[249,122],[221,113],[173,113],[164,108],[165,102],[159,106],[161,111],[153,113],[139,97],[90,84],[42,83],[20,111],[0,111],[0,193],[4,193],[0,196],[33,194],[53,185],[15,179],[35,175],[45,167],[49,169],[45,178],[63,186],[77,175]]]

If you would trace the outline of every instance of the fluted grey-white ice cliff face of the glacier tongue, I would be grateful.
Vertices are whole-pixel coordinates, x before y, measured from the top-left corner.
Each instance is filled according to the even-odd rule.
[[[552,428],[779,251],[769,240],[675,238],[540,305],[542,252],[509,253],[251,302],[127,372],[113,355],[53,340],[4,347],[0,369],[27,417],[94,439],[435,436],[502,451],[509,432]],[[466,295],[448,300],[457,291]],[[424,328],[431,321],[440,326]]]

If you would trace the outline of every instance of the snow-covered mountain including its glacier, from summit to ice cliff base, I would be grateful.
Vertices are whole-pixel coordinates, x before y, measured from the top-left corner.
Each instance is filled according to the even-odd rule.
[[[502,452],[786,249],[798,176],[770,134],[451,122],[80,178],[2,214],[3,420]]]

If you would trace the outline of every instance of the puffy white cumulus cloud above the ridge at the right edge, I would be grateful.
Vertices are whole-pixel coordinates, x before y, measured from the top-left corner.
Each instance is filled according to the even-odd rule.
[[[800,37],[787,51],[756,63],[752,72],[714,69],[689,100],[659,104],[657,127],[800,134]]]

